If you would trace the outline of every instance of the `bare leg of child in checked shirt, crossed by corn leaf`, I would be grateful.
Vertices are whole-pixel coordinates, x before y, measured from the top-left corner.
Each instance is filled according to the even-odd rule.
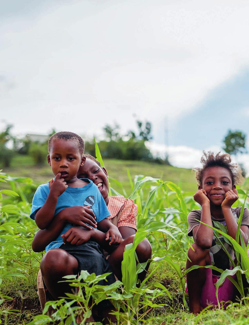
[[[121,244],[118,246],[118,248],[114,252],[112,252],[108,258],[108,262],[110,263],[114,274],[119,280],[122,280],[121,263],[123,261],[125,245],[132,243],[134,237],[135,235],[131,235],[128,238],[126,238],[124,241],[122,241]],[[144,263],[149,258],[151,258],[152,250],[151,250],[150,243],[146,238],[138,244],[136,248],[136,253],[137,253],[139,263]],[[138,274],[138,279],[140,279],[141,281],[145,279],[145,275],[147,273],[148,267],[149,264],[147,264],[145,271]]]

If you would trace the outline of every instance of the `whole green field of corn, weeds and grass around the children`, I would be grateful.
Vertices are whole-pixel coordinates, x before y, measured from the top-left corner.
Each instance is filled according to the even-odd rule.
[[[138,205],[139,231],[136,238],[142,240],[146,237],[150,241],[154,258],[147,282],[137,290],[134,279],[138,269],[134,266],[134,254],[128,249],[123,261],[124,269],[128,270],[128,277],[122,279],[124,292],[121,294],[121,288],[112,292],[108,289],[109,297],[114,299],[113,303],[116,302],[117,310],[121,308],[124,311],[119,312],[118,324],[137,325],[133,316],[137,316],[141,324],[148,325],[248,324],[247,289],[244,300],[230,305],[227,310],[205,310],[198,316],[188,313],[184,272],[186,252],[193,240],[187,236],[187,214],[199,208],[193,200],[197,186],[191,170],[135,161],[104,160],[104,163],[109,176],[117,179]],[[135,175],[151,176],[154,179],[136,177],[133,182],[135,190],[132,192],[127,169],[132,179]],[[33,184],[29,181],[12,181],[0,174],[0,179],[7,180],[6,183],[0,183],[1,189],[12,188],[20,195],[18,197],[3,192],[8,195],[3,195],[2,201],[0,195],[0,323],[71,325],[74,313],[59,303],[53,303],[57,314],[51,319],[40,315],[41,308],[36,294],[36,276],[43,253],[34,253],[31,248],[37,227],[29,218],[30,202],[36,186],[52,177],[50,166],[34,166],[29,157],[19,155],[3,172],[13,177],[30,177]],[[248,184],[248,179],[245,184]],[[114,181],[111,185],[123,193],[123,189]],[[244,185],[242,188],[246,187]],[[241,190],[241,201],[236,201],[235,205],[242,205],[244,197],[245,193]],[[247,202],[246,206],[249,206]],[[239,254],[247,263],[243,270],[249,279],[247,252],[241,250]],[[119,298],[115,300],[117,295]],[[82,295],[80,299],[84,302],[85,298]]]

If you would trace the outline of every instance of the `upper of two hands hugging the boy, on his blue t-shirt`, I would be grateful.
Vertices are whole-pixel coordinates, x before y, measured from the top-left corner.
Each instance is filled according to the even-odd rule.
[[[65,215],[63,219],[69,223],[84,227],[89,230],[92,228],[97,228],[97,222],[95,221],[96,217],[89,208],[90,206],[70,207],[70,214]],[[89,226],[86,225],[86,223]]]

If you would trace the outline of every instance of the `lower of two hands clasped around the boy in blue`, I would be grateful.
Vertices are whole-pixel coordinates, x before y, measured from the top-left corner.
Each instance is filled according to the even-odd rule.
[[[72,227],[67,230],[63,235],[63,243],[70,243],[71,245],[81,245],[91,239],[92,231],[82,229],[82,227]]]

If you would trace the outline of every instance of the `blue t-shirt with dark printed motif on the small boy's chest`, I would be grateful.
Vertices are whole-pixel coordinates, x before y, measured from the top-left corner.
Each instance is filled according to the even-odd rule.
[[[54,215],[58,214],[61,210],[72,206],[90,205],[90,209],[93,211],[96,217],[95,221],[98,223],[108,217],[110,212],[108,211],[105,201],[97,186],[93,184],[90,179],[82,178],[82,180],[89,182],[89,184],[81,188],[74,188],[70,186],[66,188],[66,190],[58,198]],[[31,219],[35,220],[35,213],[44,205],[45,201],[47,200],[48,193],[48,183],[38,186],[32,201],[30,214]],[[74,226],[74,224],[66,224],[57,239],[48,244],[46,247],[46,252],[52,248],[59,248],[63,243],[61,235]]]

